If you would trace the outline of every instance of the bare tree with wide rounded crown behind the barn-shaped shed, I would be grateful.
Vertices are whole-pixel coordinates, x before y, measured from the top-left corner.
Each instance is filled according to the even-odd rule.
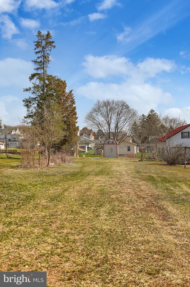
[[[97,100],[86,114],[84,121],[102,136],[114,138],[118,144],[130,135],[137,111],[130,108],[123,100]]]

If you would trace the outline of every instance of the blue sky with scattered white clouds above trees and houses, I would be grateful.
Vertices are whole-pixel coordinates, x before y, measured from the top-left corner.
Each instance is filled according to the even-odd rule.
[[[97,99],[190,123],[189,0],[0,0],[0,117],[26,115],[36,34],[56,48],[48,74],[73,90],[80,128]]]

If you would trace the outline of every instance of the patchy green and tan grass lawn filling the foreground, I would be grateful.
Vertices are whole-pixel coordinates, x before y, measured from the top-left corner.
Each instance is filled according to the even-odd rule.
[[[0,156],[0,271],[47,286],[190,286],[190,169],[76,158],[20,169]]]

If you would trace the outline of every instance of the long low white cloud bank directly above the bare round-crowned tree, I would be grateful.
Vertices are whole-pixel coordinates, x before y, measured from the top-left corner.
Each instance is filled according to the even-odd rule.
[[[151,84],[135,84],[127,81],[122,84],[108,84],[102,82],[89,82],[77,89],[79,96],[88,99],[123,99],[131,107],[138,109],[140,113],[148,113],[151,108],[156,109],[158,104],[167,104],[171,100],[171,94],[164,92],[162,88]]]

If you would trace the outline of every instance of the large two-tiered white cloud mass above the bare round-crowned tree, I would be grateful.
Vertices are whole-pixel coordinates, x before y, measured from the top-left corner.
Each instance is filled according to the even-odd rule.
[[[79,96],[93,100],[124,99],[140,113],[148,113],[151,108],[156,109],[158,104],[167,104],[171,101],[171,94],[164,91],[156,79],[154,84],[150,81],[161,72],[173,71],[175,63],[171,60],[146,58],[135,65],[125,57],[88,55],[83,66],[90,76],[102,79],[110,77],[110,81],[88,82],[77,89]]]

